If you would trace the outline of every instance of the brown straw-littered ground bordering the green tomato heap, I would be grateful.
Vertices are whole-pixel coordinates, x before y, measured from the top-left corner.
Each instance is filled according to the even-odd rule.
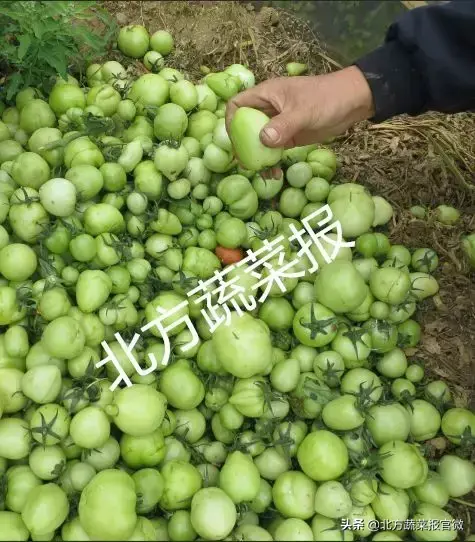
[[[339,67],[306,23],[281,10],[255,10],[250,4],[231,1],[119,1],[103,6],[119,25],[143,24],[150,32],[169,30],[176,48],[167,64],[192,80],[201,77],[201,65],[218,71],[234,62],[248,65],[258,81],[285,75],[289,61],[308,63],[311,74]],[[145,70],[138,62],[135,68]],[[439,254],[440,292],[418,311],[423,339],[410,354],[424,363],[432,377],[450,383],[459,406],[472,408],[475,273],[464,261],[460,238],[475,231],[474,134],[472,114],[427,114],[381,125],[363,123],[333,144],[341,163],[340,178],[361,182],[393,204],[391,240],[413,248],[431,247]],[[462,218],[456,226],[443,226],[429,211],[428,219],[418,220],[409,212],[416,204],[429,210],[453,205]],[[466,527],[470,519],[475,522],[466,507],[457,514],[466,518]]]

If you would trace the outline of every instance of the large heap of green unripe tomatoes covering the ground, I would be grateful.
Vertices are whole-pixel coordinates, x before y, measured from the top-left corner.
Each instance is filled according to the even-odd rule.
[[[455,540],[475,414],[410,356],[437,254],[391,244],[391,206],[329,148],[266,149],[248,108],[229,135],[246,67],[193,83],[165,65],[168,33],[118,44],[150,73],[95,64],[2,105],[0,540]],[[332,262],[288,240],[324,205],[355,241]],[[274,263],[303,276],[212,332],[188,293],[228,266],[262,293],[236,264],[279,236]],[[139,375],[116,334],[186,300],[169,363]],[[103,341],[132,386],[111,391]],[[146,372],[164,350],[152,328],[133,355]]]

